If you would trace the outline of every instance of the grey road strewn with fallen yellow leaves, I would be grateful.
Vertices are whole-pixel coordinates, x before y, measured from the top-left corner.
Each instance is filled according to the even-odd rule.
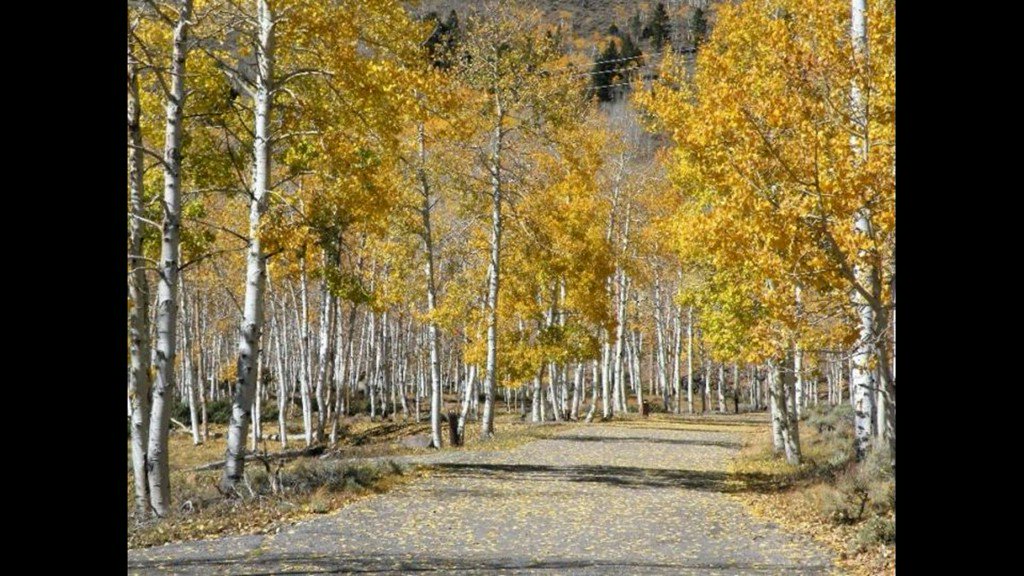
[[[132,574],[827,574],[831,551],[732,497],[763,415],[538,426],[532,442],[389,456],[420,465],[386,493],[287,526],[128,551]]]

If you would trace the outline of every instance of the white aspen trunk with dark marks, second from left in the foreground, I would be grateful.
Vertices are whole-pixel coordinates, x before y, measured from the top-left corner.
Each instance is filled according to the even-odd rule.
[[[167,454],[171,406],[174,402],[175,329],[181,225],[181,121],[184,117],[185,58],[191,0],[178,4],[171,51],[170,93],[167,94],[164,128],[164,218],[161,227],[160,275],[157,283],[157,379],[153,386],[147,451],[150,500],[153,511],[163,518],[170,511],[171,481]]]

